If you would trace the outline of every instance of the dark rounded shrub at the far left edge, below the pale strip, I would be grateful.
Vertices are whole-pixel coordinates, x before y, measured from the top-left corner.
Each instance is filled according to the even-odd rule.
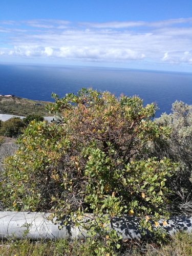
[[[26,125],[19,117],[12,117],[3,122],[0,129],[0,135],[6,137],[17,137],[23,132],[24,127],[26,127]]]

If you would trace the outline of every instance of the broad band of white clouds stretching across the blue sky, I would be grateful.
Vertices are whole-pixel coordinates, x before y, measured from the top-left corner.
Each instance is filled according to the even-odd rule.
[[[0,57],[192,64],[192,18],[156,22],[0,22]]]

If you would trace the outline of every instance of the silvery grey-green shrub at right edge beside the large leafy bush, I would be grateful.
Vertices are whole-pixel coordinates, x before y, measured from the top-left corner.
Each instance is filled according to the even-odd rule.
[[[170,137],[164,140],[162,137],[156,141],[154,154],[159,158],[166,156],[175,162],[179,162],[179,172],[169,179],[169,187],[175,190],[173,205],[176,213],[192,213],[192,105],[175,101],[172,105],[172,113],[163,113],[155,119],[159,126],[170,128]],[[178,203],[180,202],[180,203]]]

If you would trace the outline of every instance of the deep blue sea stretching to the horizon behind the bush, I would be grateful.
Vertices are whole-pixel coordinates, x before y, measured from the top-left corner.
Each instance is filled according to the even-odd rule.
[[[51,93],[64,97],[82,87],[108,90],[117,97],[138,95],[144,105],[156,102],[156,117],[171,112],[172,103],[192,104],[192,73],[132,69],[0,65],[0,94],[54,101]]]

